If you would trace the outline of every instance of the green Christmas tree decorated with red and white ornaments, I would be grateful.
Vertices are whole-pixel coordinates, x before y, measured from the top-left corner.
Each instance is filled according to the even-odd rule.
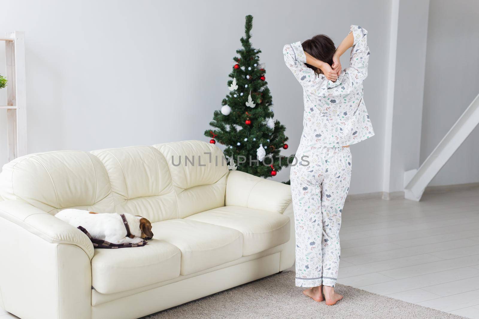
[[[273,120],[266,70],[259,62],[261,50],[250,42],[252,22],[253,17],[247,15],[242,48],[236,50],[239,56],[233,58],[236,63],[229,74],[229,94],[221,110],[214,112],[210,125],[215,129],[206,130],[205,136],[212,138],[210,143],[226,146],[223,153],[231,169],[270,177],[288,166],[288,158],[280,156],[281,148],[288,148],[288,138],[285,126]]]

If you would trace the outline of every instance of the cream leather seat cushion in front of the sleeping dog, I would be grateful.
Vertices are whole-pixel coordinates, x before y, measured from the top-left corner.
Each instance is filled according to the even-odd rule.
[[[149,240],[143,247],[96,248],[91,285],[102,294],[112,294],[156,284],[178,277],[180,260],[180,250],[160,240]]]

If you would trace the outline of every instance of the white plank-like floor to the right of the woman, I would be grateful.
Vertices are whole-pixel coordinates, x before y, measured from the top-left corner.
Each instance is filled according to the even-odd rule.
[[[342,211],[338,283],[479,319],[479,187]]]

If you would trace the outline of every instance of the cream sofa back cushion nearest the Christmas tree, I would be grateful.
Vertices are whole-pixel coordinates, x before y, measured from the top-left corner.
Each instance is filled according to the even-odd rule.
[[[170,168],[178,217],[225,206],[228,165],[221,150],[201,141],[156,144]]]

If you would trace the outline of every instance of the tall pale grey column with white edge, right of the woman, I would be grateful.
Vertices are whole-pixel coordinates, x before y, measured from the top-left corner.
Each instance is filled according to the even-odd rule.
[[[394,5],[396,1],[393,1]],[[388,70],[384,198],[403,191],[404,172],[419,167],[429,0],[399,0],[395,65]],[[394,19],[394,18],[393,18]],[[394,26],[391,26],[393,33]],[[391,37],[393,41],[393,37]],[[394,50],[394,45],[390,45]],[[394,52],[389,53],[389,58]],[[390,100],[392,99],[392,109]]]

